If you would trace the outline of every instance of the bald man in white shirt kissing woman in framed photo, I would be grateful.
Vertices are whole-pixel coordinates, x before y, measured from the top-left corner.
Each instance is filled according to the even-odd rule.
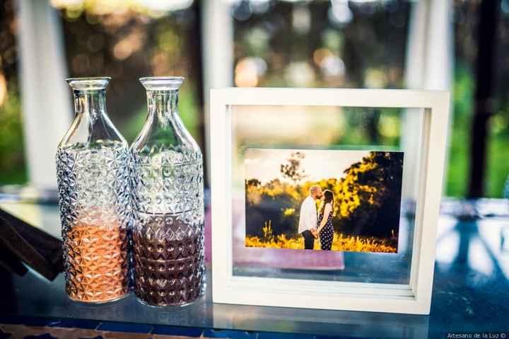
[[[298,233],[304,237],[304,248],[312,250],[315,246],[315,232],[317,229],[317,209],[315,200],[322,197],[322,188],[314,185],[310,188],[310,194],[300,205]]]

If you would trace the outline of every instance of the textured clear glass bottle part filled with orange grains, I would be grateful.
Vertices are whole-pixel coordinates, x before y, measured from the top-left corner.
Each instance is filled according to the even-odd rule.
[[[112,301],[129,290],[129,147],[106,115],[110,78],[67,82],[76,115],[57,149],[66,291]]]

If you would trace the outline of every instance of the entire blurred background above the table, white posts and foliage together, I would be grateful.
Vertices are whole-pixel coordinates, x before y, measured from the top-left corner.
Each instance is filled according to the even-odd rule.
[[[180,114],[206,161],[210,88],[451,91],[444,195],[503,197],[508,34],[509,0],[4,0],[0,186],[56,186],[74,114],[66,77],[112,76],[107,110],[132,142],[146,116],[139,77],[180,75]],[[413,127],[383,113],[366,126],[353,144],[397,144]]]

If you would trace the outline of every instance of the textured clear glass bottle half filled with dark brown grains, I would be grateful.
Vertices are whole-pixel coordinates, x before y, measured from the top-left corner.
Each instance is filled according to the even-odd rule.
[[[188,304],[205,288],[203,159],[178,115],[184,78],[140,81],[148,115],[131,146],[135,292],[153,306]]]

